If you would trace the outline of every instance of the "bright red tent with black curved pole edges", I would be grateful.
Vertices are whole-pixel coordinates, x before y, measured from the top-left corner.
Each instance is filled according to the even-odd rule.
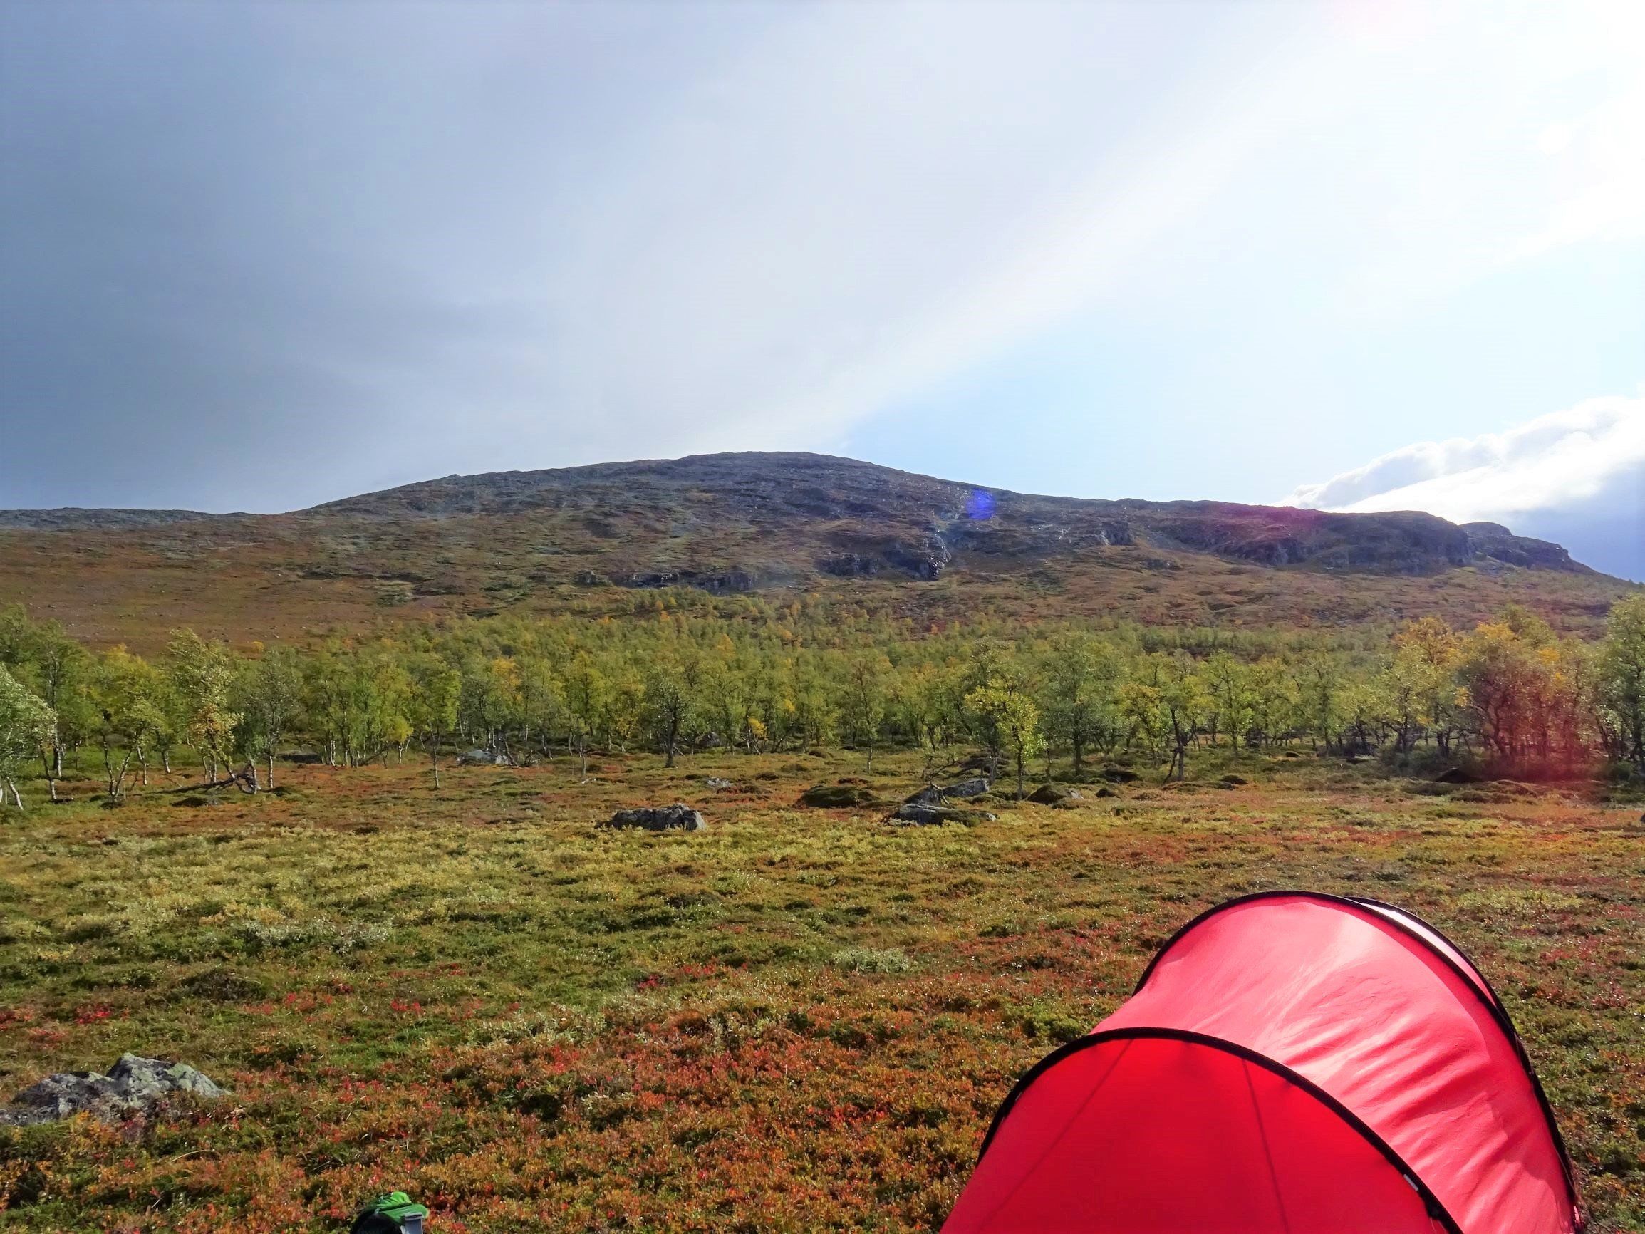
[[[1390,905],[1194,918],[1000,1106],[944,1234],[1568,1234],[1576,1183],[1489,982]]]

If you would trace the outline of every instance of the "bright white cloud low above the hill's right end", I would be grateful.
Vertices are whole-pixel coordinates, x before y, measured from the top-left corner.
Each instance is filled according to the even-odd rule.
[[[1288,503],[1505,523],[1559,540],[1601,569],[1640,578],[1645,393],[1589,398],[1505,433],[1406,446],[1324,484],[1304,484]]]

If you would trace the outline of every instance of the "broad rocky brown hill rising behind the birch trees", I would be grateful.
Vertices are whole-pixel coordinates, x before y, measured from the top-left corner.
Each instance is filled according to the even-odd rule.
[[[0,599],[94,642],[617,610],[665,586],[1191,625],[1474,620],[1522,601],[1592,629],[1629,584],[1494,523],[1036,497],[818,454],[451,476],[281,515],[0,512]]]

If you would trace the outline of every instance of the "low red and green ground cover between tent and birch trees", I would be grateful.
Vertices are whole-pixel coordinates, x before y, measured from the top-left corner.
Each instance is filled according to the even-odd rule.
[[[1245,788],[1217,767],[971,828],[795,808],[844,758],[452,768],[438,793],[299,767],[276,795],[10,816],[0,1084],[133,1050],[232,1093],[0,1132],[0,1224],[332,1231],[393,1186],[434,1231],[936,1229],[1023,1068],[1191,915],[1296,885],[1451,933],[1597,1229],[1645,1226],[1638,803],[1249,760]],[[709,829],[594,826],[665,800]]]

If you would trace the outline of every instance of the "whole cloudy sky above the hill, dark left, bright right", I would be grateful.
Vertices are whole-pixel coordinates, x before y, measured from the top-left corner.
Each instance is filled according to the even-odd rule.
[[[813,449],[1645,578],[1640,63],[1637,0],[0,0],[0,507]]]

